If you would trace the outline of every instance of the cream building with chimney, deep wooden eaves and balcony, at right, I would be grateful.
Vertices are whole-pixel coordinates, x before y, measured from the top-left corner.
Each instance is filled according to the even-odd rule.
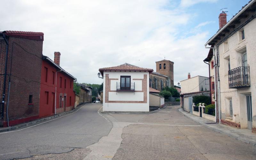
[[[221,13],[220,29],[205,46],[213,49],[219,121],[256,133],[255,8],[250,1],[228,23]]]

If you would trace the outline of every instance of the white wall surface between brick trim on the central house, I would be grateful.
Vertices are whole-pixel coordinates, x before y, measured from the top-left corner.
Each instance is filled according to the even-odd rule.
[[[109,80],[106,82],[106,74],[109,78],[117,78],[118,80]],[[105,92],[103,94],[103,111],[136,111],[136,112],[148,112],[149,111],[149,72],[104,72],[103,73],[103,91],[106,91],[105,84],[110,84],[110,90],[116,91],[116,83],[120,83],[120,76],[131,76],[131,83],[135,82],[135,91],[142,91],[142,80],[144,74],[147,74],[147,103],[105,103]],[[108,92],[109,101],[143,101],[143,92]]]

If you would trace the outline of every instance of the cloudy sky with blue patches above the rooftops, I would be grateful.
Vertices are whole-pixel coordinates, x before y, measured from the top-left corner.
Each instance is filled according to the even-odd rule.
[[[43,32],[43,54],[79,83],[101,84],[99,68],[130,63],[156,71],[174,62],[174,85],[208,76],[204,44],[249,0],[2,0],[0,31]]]

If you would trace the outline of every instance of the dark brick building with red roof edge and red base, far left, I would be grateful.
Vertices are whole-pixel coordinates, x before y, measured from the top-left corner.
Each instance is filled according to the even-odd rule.
[[[3,31],[0,37],[0,126],[37,119],[44,33]]]

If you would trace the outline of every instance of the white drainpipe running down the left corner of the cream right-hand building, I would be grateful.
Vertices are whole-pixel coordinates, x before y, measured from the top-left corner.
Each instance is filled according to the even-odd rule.
[[[206,47],[206,45],[204,45],[204,48],[209,48],[209,49],[212,49],[212,52],[213,52],[213,66],[214,66],[214,96],[215,96],[215,106],[218,106],[218,112],[219,112],[219,117],[217,117],[217,110],[216,110],[216,107],[215,107],[215,122],[217,122],[217,118],[219,118],[219,123],[220,123],[220,88],[217,89],[216,87],[216,65],[215,65],[215,49],[214,47]],[[218,72],[218,71],[217,71]],[[220,86],[220,81],[218,81],[218,87]],[[217,103],[217,100],[216,100],[216,96],[217,96],[217,92],[216,92],[216,89],[218,90],[218,103]],[[217,105],[216,105],[217,104]]]

